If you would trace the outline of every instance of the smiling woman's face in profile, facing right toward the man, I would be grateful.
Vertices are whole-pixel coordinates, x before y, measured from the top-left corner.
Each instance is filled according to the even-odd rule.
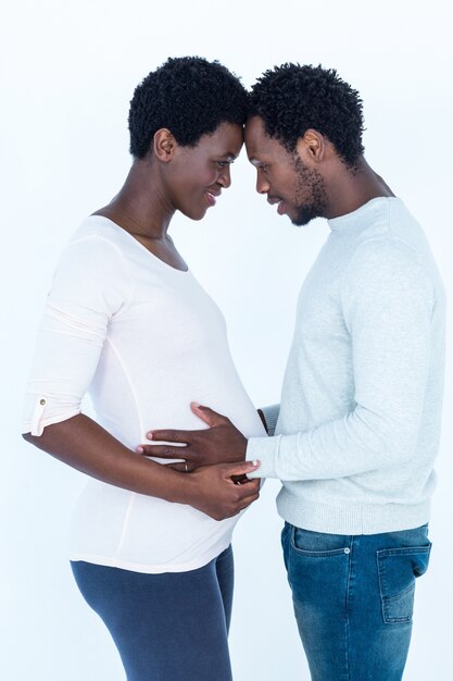
[[[231,184],[230,165],[239,156],[243,128],[222,123],[202,135],[196,147],[178,146],[171,162],[171,200],[191,220],[201,220],[215,206],[222,189]]]

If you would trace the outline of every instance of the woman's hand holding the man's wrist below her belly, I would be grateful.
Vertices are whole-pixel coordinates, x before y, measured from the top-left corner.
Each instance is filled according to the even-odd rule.
[[[257,461],[203,466],[184,475],[185,503],[206,513],[214,520],[236,516],[260,496],[260,479],[235,482],[235,476],[246,476],[255,471]]]

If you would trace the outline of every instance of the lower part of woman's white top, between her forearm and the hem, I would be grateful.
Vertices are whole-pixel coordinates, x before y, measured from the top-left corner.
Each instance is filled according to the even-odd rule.
[[[218,522],[187,505],[89,481],[73,517],[71,557],[150,572],[194,569],[228,546],[238,519]]]

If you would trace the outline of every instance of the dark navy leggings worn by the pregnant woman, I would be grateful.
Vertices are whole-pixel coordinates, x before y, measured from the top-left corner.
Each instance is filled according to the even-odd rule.
[[[71,566],[84,598],[112,634],[128,681],[232,681],[231,547],[189,572]]]

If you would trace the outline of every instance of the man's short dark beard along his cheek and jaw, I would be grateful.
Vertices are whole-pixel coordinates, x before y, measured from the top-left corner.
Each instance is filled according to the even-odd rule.
[[[317,170],[307,168],[298,156],[294,158],[294,168],[299,174],[295,196],[301,194],[309,196],[303,203],[295,206],[295,218],[291,220],[292,224],[301,227],[315,218],[323,218],[327,211],[328,200],[326,185]]]

